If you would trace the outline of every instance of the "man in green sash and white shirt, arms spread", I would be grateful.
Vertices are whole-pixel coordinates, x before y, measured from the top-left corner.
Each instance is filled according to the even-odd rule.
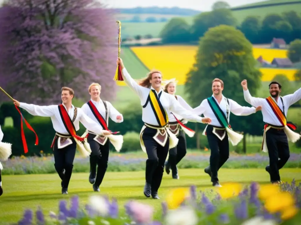
[[[212,118],[212,123],[207,125],[203,135],[207,136],[210,153],[210,165],[205,168],[205,173],[211,177],[212,185],[222,187],[219,184],[217,172],[229,158],[229,140],[236,146],[244,137],[234,132],[229,124],[230,113],[236,116],[248,116],[261,110],[261,107],[244,107],[232,99],[222,95],[224,82],[221,79],[212,81],[213,95],[202,101],[200,106],[194,109],[197,115],[204,114]]]

